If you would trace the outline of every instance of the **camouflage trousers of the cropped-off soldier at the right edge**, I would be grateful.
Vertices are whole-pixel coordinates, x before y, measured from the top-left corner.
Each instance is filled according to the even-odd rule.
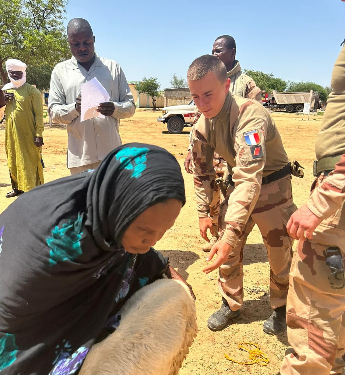
[[[320,182],[320,179],[318,180]],[[345,374],[345,288],[332,289],[323,251],[338,247],[345,259],[345,208],[315,229],[294,252],[287,301],[288,350],[281,375]]]

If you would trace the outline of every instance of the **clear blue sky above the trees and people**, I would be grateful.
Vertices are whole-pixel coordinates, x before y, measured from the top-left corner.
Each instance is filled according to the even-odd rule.
[[[344,15],[341,0],[70,0],[66,26],[86,18],[100,56],[117,60],[127,81],[158,77],[161,89],[223,34],[235,38],[242,69],[329,86]]]

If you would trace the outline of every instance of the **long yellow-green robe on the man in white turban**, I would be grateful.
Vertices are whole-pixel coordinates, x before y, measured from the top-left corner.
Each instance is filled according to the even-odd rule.
[[[35,137],[42,137],[44,130],[43,106],[39,90],[25,83],[14,93],[14,100],[5,108],[5,148],[12,188],[28,191],[43,184],[41,147]]]

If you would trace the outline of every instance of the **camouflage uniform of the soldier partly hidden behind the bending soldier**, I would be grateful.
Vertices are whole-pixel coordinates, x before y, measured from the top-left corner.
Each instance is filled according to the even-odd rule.
[[[227,78],[230,78],[230,88],[229,92],[233,95],[242,96],[244,98],[253,99],[262,104],[261,90],[254,80],[248,75],[244,74],[241,70],[240,62],[235,60],[235,66],[231,71],[227,72]],[[196,110],[193,125],[198,121],[201,113]],[[190,137],[192,135],[192,130],[190,131]],[[188,150],[191,149],[191,139],[189,139]],[[213,159],[214,170],[216,171],[216,178],[223,178],[224,172],[227,169],[226,161],[220,156],[220,154],[214,153]],[[211,202],[210,216],[212,222],[216,225],[219,216],[220,202],[224,200],[225,197],[222,196],[219,186],[214,186],[213,199]]]

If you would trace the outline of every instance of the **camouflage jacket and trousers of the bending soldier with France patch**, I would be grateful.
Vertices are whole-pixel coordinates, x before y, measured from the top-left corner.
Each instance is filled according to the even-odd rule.
[[[256,134],[257,142],[248,141],[248,134]],[[242,253],[247,236],[257,223],[270,261],[272,308],[283,306],[287,298],[293,245],[286,224],[296,206],[289,172],[279,180],[262,184],[267,176],[286,168],[289,163],[269,112],[258,102],[229,94],[216,117],[206,119],[201,115],[192,133],[199,217],[208,216],[212,201],[214,151],[228,163],[235,185],[229,186],[220,208],[220,239],[233,249],[229,260],[219,268],[219,290],[231,310],[240,308],[243,301]]]

